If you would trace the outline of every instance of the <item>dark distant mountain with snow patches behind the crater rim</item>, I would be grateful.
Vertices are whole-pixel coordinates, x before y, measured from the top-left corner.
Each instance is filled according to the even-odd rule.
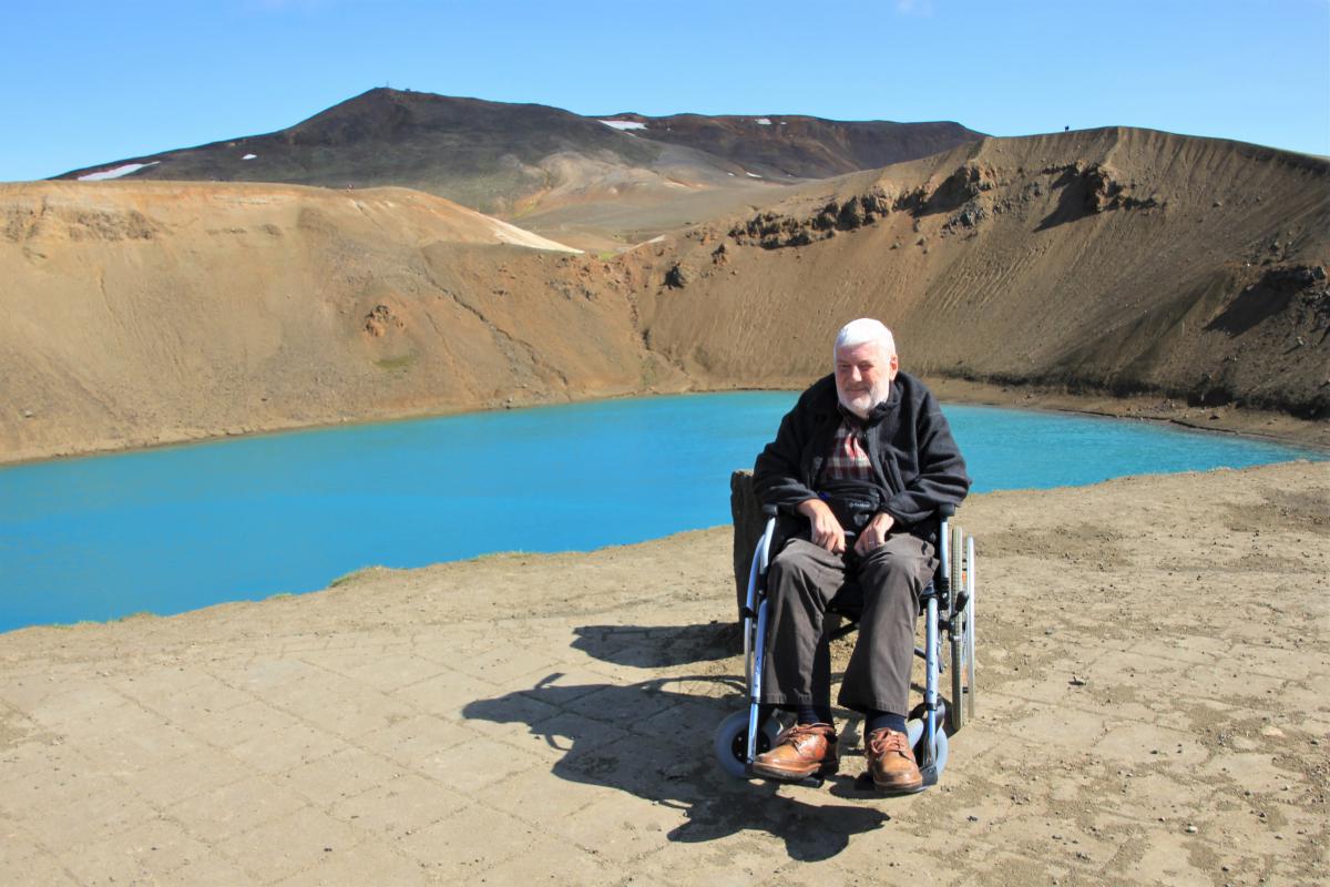
[[[641,126],[634,130],[604,120],[537,104],[375,88],[286,129],[97,164],[53,178],[76,180],[134,164],[141,165],[128,176],[134,180],[400,185],[509,219],[531,222],[532,215],[565,210],[557,222],[564,231],[573,227],[588,242],[613,246],[629,230],[669,229],[653,227],[654,217],[674,218],[672,207],[696,191],[737,206],[755,191],[866,169],[868,161],[922,157],[979,136],[959,124],[789,117],[785,126],[746,126],[741,138],[738,118],[732,117],[709,122],[713,118],[693,114],[634,114],[632,122]],[[749,170],[745,162],[765,172]],[[622,206],[625,193],[638,211],[621,225],[579,222],[577,207]],[[540,227],[539,218],[532,223]]]

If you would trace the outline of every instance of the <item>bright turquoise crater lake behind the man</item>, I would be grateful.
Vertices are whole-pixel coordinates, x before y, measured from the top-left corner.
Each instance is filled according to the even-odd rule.
[[[0,632],[725,524],[730,472],[794,396],[605,400],[3,468]],[[975,492],[1321,457],[1140,422],[946,412]]]

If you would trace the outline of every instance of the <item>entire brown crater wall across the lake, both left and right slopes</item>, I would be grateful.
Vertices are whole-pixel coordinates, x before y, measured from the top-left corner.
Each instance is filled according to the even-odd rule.
[[[1146,130],[987,140],[617,257],[504,245],[403,189],[3,186],[0,459],[799,387],[859,315],[948,396],[1325,445],[1327,182]]]

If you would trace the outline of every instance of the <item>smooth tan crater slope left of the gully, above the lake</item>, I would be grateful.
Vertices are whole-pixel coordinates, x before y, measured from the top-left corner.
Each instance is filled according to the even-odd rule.
[[[5,460],[608,396],[612,271],[406,189],[0,186]]]

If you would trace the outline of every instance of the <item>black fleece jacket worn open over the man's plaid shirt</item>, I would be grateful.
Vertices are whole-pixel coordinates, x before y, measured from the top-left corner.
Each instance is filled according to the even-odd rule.
[[[843,416],[835,376],[817,380],[799,396],[753,468],[753,485],[763,504],[793,513],[795,505],[817,497],[822,464]],[[966,497],[966,460],[938,399],[919,379],[898,372],[890,396],[863,426],[882,511],[902,529],[924,521],[938,505]]]

